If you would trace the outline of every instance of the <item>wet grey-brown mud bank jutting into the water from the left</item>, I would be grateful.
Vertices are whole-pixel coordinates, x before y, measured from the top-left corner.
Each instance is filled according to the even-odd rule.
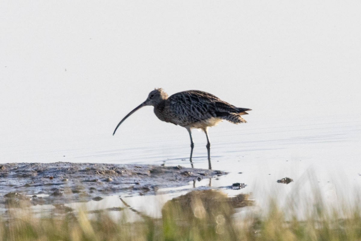
[[[225,175],[208,169],[95,163],[7,163],[0,166],[0,206],[101,200],[106,195],[153,194]]]

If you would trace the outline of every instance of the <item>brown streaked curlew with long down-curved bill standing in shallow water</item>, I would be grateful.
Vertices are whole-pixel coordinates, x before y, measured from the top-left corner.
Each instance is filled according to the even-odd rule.
[[[210,142],[208,137],[208,127],[217,125],[222,120],[227,120],[234,124],[246,123],[242,115],[248,115],[249,108],[235,107],[217,96],[200,90],[187,90],[178,92],[168,97],[162,88],[151,91],[148,98],[131,112],[129,112],[117,125],[118,127],[138,109],[144,106],[153,106],[154,113],[161,121],[170,122],[187,129],[191,139],[190,162],[193,168],[193,139],[191,129],[201,129],[207,138],[208,168],[212,169],[210,163]]]

